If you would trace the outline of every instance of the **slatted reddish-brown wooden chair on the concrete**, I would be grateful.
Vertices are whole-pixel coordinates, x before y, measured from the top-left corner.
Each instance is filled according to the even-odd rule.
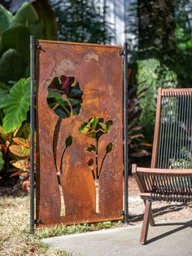
[[[151,168],[132,167],[146,208],[140,243],[155,225],[153,201],[192,201],[192,89],[158,91]]]

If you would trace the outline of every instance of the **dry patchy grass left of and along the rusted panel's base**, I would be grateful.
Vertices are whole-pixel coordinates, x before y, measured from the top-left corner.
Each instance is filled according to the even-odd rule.
[[[4,193],[4,192],[3,192]],[[12,193],[13,194],[13,193]],[[0,189],[0,255],[70,255],[41,243],[41,238],[77,232],[88,232],[102,228],[120,227],[121,222],[44,227],[29,235],[29,196],[15,192],[15,196],[4,196]]]

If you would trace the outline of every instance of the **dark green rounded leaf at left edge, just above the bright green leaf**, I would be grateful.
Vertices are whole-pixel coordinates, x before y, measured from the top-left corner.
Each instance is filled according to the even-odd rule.
[[[17,81],[24,77],[24,57],[15,49],[9,49],[0,58],[0,81]]]

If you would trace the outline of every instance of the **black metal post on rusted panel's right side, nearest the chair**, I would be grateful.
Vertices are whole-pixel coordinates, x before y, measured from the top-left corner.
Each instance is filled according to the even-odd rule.
[[[124,42],[124,223],[129,223],[128,43]]]

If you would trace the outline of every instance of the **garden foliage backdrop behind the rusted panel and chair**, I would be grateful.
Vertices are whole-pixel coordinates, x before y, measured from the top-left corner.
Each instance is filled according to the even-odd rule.
[[[7,9],[0,7],[0,177],[5,173],[9,177],[12,173],[7,175],[8,169],[17,171],[12,161],[20,158],[9,147],[15,145],[15,137],[30,139],[26,129],[30,34],[51,40],[106,44],[115,33],[106,21],[107,6],[98,8],[94,0],[37,0],[24,3],[14,15],[8,11],[11,1],[2,2]],[[132,91],[129,116],[133,117],[133,122],[129,119],[133,123],[129,130],[129,160],[137,161],[137,157],[149,155],[142,145],[153,140],[158,87],[191,87],[192,2],[135,0],[126,11],[127,33],[133,35],[128,40]]]

